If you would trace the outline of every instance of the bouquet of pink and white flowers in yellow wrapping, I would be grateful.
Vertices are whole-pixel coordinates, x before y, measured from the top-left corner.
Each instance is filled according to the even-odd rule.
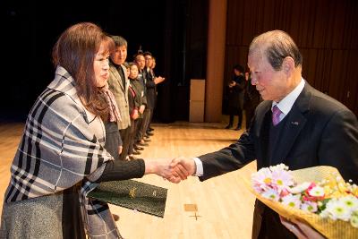
[[[251,175],[250,189],[278,214],[301,220],[328,238],[358,238],[358,186],[345,183],[335,167],[264,167]]]

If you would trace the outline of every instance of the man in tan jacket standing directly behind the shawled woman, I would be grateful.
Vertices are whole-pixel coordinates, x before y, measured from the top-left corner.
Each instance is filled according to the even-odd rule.
[[[127,69],[123,65],[127,58],[127,41],[119,36],[112,36],[112,38],[115,41],[115,52],[110,55],[108,85],[109,90],[115,95],[115,102],[122,118],[122,121],[117,122],[123,141],[123,148],[119,149],[119,153],[120,159],[125,160],[128,155],[131,133],[128,107],[129,80]]]

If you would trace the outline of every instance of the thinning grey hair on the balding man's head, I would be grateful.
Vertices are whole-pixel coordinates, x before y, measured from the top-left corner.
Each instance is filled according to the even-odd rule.
[[[286,56],[294,59],[294,67],[302,67],[303,56],[300,50],[294,43],[294,39],[283,30],[271,30],[253,38],[249,55],[258,50],[267,57],[268,63],[276,71],[281,70]]]

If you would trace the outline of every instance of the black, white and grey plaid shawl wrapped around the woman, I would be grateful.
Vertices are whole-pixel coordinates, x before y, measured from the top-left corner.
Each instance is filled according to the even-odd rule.
[[[13,158],[4,209],[16,205],[15,201],[46,199],[43,196],[61,194],[81,184],[82,221],[89,237],[121,238],[107,204],[86,197],[98,185],[92,182],[113,158],[103,148],[106,133],[102,120],[81,104],[74,84],[71,75],[58,66],[55,80],[32,107]],[[1,233],[9,235],[4,232],[9,228],[2,222]]]

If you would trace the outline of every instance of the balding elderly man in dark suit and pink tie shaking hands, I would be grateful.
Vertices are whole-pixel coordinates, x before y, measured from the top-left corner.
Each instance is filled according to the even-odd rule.
[[[200,156],[175,158],[177,176],[200,181],[257,160],[258,169],[284,163],[290,169],[335,166],[345,180],[358,183],[358,123],[334,98],[313,89],[302,77],[303,57],[284,31],[253,39],[248,65],[251,83],[265,100],[256,108],[251,127],[234,144]],[[256,201],[252,238],[294,238],[277,213]]]

